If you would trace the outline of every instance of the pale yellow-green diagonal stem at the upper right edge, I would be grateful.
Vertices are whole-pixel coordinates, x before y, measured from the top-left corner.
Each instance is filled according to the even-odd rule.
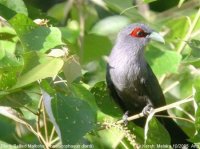
[[[188,41],[190,39],[191,34],[192,34],[197,22],[199,21],[199,18],[200,18],[200,8],[199,8],[194,20],[192,21],[192,24],[191,24],[187,34],[185,35],[183,41],[181,42],[181,44],[180,44],[180,46],[179,46],[179,48],[177,50],[178,53],[181,53],[184,50],[184,48],[185,48],[185,46],[187,44],[185,41]]]

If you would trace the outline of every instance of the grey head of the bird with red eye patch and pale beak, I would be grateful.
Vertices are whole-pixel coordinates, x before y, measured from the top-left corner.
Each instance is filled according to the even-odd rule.
[[[154,32],[149,26],[135,23],[128,25],[120,31],[117,42],[123,46],[140,50],[144,49],[150,39],[164,43],[163,37]]]

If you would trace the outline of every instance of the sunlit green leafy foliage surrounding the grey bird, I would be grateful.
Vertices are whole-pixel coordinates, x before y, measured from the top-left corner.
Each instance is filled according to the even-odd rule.
[[[117,33],[133,22],[164,36],[164,45],[150,43],[146,59],[168,104],[190,99],[170,113],[200,142],[199,6],[199,0],[0,0],[0,148],[170,144],[154,118],[145,131],[115,123],[123,113],[106,89],[106,59]]]

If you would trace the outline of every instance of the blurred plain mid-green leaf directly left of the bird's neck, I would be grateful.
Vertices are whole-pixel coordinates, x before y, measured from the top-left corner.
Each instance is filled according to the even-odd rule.
[[[107,37],[92,34],[86,35],[83,46],[83,62],[99,60],[102,56],[107,55],[111,48],[111,42]]]

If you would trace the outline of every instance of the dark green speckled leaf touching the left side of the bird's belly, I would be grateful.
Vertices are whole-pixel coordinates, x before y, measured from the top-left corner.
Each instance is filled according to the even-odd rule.
[[[114,117],[122,116],[122,111],[111,98],[104,81],[96,83],[91,92],[95,96],[96,103],[103,113]]]

